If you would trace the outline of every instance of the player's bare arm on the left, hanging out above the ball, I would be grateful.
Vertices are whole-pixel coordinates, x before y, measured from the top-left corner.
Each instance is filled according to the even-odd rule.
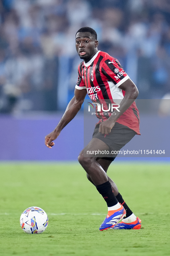
[[[64,115],[62,116],[60,122],[47,136],[45,136],[45,145],[51,149],[52,146],[54,146],[53,140],[56,140],[56,138],[59,136],[62,129],[76,116],[76,114],[81,109],[81,105],[84,102],[85,96],[87,94],[87,90],[78,90],[75,88],[75,95],[71,99],[71,101],[68,103],[68,106],[66,108],[66,111],[64,112]]]

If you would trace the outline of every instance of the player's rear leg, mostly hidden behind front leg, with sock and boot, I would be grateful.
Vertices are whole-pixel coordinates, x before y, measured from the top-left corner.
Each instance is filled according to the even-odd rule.
[[[110,159],[110,160],[108,160]],[[114,157],[113,158],[97,158],[96,161],[100,164],[100,166],[104,169],[105,172],[107,172],[108,167],[110,166],[110,164],[112,163]],[[90,178],[90,176],[87,174],[87,178],[89,179],[89,181],[91,183],[92,180]],[[133,212],[131,211],[131,209],[128,207],[128,205],[126,204],[126,202],[124,201],[122,195],[119,193],[118,188],[116,186],[116,184],[114,183],[114,181],[112,181],[112,179],[110,179],[110,177],[108,177],[108,181],[110,182],[111,186],[112,186],[112,190],[114,195],[116,196],[116,199],[118,200],[119,203],[121,203],[121,205],[123,205],[123,207],[126,210],[126,216],[123,218],[122,222],[115,225],[114,229],[139,229],[141,227],[141,220],[136,217]]]

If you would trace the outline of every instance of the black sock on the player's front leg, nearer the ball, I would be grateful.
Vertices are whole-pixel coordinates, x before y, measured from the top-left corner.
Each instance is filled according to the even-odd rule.
[[[118,203],[115,195],[113,194],[111,184],[109,181],[106,181],[105,183],[96,186],[96,188],[97,188],[98,192],[103,196],[108,207],[111,207]]]

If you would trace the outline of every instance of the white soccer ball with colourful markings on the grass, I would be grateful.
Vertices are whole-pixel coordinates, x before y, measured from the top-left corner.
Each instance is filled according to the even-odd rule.
[[[40,234],[48,226],[48,216],[43,209],[32,206],[21,214],[20,225],[28,234]]]

